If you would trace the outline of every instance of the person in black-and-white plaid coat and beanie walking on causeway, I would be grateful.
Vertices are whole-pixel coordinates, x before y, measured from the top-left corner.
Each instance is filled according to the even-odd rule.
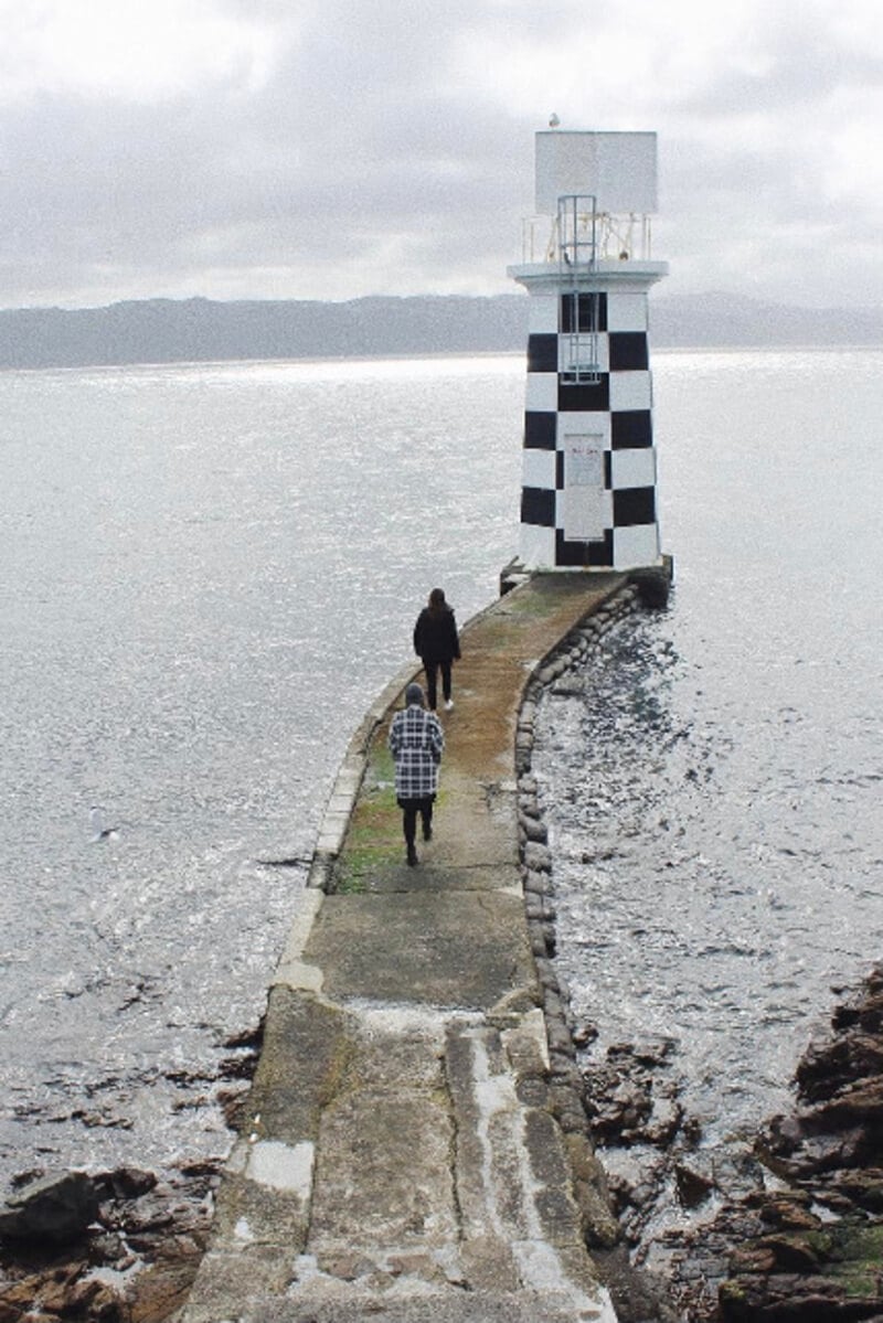
[[[424,840],[433,836],[433,802],[438,790],[438,765],[445,747],[445,733],[434,712],[424,708],[424,691],[418,684],[405,689],[405,706],[389,725],[389,749],[396,763],[396,799],[402,811],[402,831],[408,863],[417,859],[417,815],[424,827]]]

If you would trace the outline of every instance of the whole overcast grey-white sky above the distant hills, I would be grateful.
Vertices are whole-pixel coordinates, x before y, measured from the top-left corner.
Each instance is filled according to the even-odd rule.
[[[879,0],[0,0],[0,307],[514,292],[552,112],[658,132],[667,292],[883,300]]]

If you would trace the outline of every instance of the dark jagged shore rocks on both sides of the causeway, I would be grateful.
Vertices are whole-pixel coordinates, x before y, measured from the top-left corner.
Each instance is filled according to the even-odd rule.
[[[552,970],[544,976],[547,1015],[564,1024],[561,988]],[[830,1032],[800,1062],[796,1110],[757,1136],[764,1177],[666,1238],[665,1278],[630,1262],[642,1212],[671,1176],[683,1207],[716,1192],[686,1156],[700,1136],[667,1074],[669,1045],[618,1045],[604,1066],[580,1069],[575,1048],[592,1028],[565,1033],[551,1040],[553,1107],[621,1323],[883,1323],[883,966],[842,991]],[[655,1148],[655,1180],[610,1180],[596,1146]],[[66,1172],[23,1185],[0,1213],[0,1323],[173,1318],[208,1242],[220,1168],[193,1163],[165,1180]]]

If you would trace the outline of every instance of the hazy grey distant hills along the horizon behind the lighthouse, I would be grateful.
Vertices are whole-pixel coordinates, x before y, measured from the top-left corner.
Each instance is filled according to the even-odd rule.
[[[349,303],[147,299],[0,311],[0,368],[500,353],[527,343],[524,294]],[[883,344],[883,310],[777,307],[727,294],[651,298],[654,347]]]

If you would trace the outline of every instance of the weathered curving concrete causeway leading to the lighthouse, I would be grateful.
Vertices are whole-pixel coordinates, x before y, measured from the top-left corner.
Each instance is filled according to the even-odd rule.
[[[515,758],[526,684],[624,583],[537,576],[463,628],[416,868],[387,751],[414,667],[365,716],[183,1323],[616,1323],[549,1105]]]

